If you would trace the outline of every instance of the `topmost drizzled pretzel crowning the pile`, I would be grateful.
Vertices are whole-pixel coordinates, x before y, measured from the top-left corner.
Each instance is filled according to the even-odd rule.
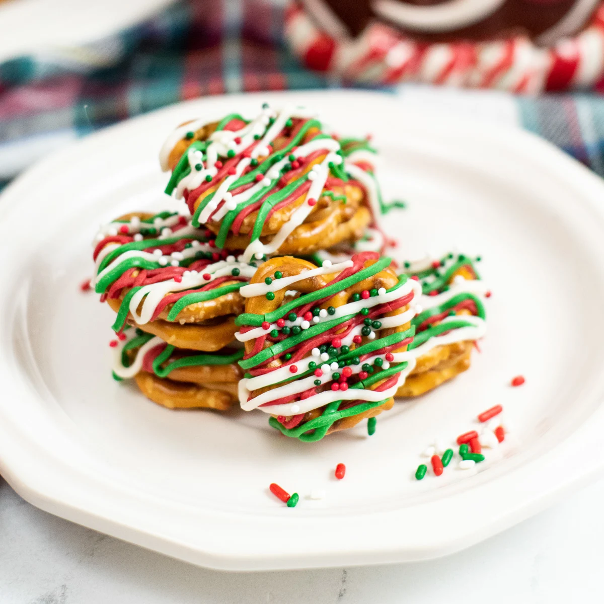
[[[193,225],[207,225],[220,248],[244,260],[306,254],[359,239],[385,211],[367,141],[337,140],[304,109],[254,120],[231,114],[193,121],[160,153],[172,176],[165,192],[184,197]]]

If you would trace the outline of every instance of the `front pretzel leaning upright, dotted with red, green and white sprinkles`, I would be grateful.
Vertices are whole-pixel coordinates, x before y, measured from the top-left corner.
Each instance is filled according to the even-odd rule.
[[[240,405],[305,442],[389,409],[413,367],[405,351],[419,291],[377,252],[321,267],[291,256],[266,261],[240,290],[246,312],[236,338],[248,371]]]

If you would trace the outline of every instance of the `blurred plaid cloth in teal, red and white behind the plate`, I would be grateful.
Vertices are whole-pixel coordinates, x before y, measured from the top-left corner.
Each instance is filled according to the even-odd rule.
[[[137,27],[93,41],[110,66],[98,68],[89,52],[72,53],[71,62],[47,53],[0,63],[0,188],[68,141],[170,103],[343,85],[294,59],[283,21],[282,0],[180,0]],[[597,95],[528,98],[414,86],[388,92],[403,104],[521,124],[604,175],[604,99]]]

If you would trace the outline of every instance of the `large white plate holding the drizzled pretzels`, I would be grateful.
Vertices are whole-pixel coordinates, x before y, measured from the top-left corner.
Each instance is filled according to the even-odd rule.
[[[316,106],[373,132],[387,225],[406,250],[480,252],[489,333],[470,371],[377,421],[314,444],[260,413],[174,412],[109,371],[113,313],[80,281],[101,221],[164,208],[156,159],[175,124],[263,100]],[[602,468],[604,186],[519,130],[401,111],[365,92],[213,97],[97,133],[1,196],[0,470],[57,515],[197,564],[232,570],[428,559],[526,518]],[[176,204],[176,202],[170,202]],[[527,383],[511,388],[524,374]],[[419,454],[502,403],[516,430],[476,474],[418,482]],[[344,480],[333,478],[337,463]],[[300,493],[289,509],[271,482]],[[312,489],[326,497],[310,501]]]

